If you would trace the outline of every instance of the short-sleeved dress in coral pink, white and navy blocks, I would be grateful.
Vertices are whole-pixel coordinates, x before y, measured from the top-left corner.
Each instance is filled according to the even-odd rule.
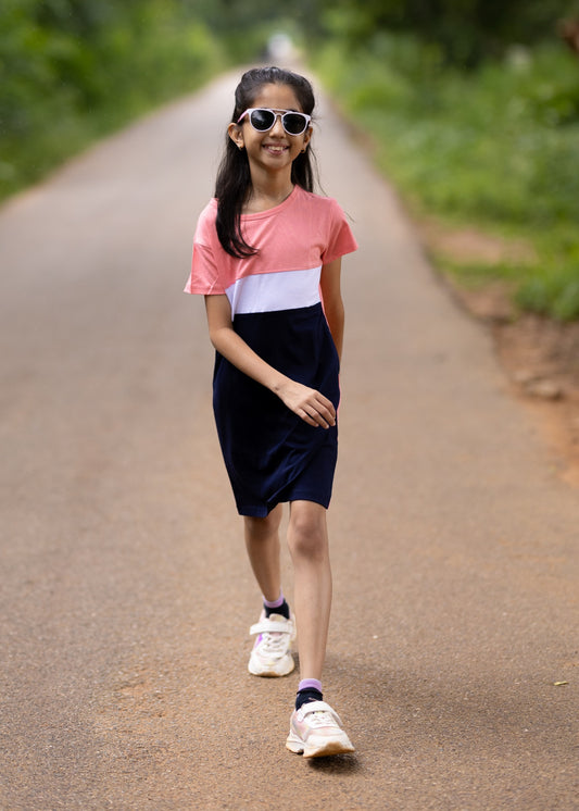
[[[241,219],[257,253],[236,259],[215,228],[217,201],[199,217],[186,292],[225,294],[234,329],[267,363],[340,400],[339,360],[324,315],[322,266],[357,246],[331,198],[295,186],[274,209]],[[267,388],[218,352],[213,409],[238,512],[263,517],[278,503],[304,499],[328,507],[338,453],[337,426],[303,422]]]

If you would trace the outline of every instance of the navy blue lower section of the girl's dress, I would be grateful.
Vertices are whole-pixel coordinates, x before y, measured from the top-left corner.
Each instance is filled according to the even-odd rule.
[[[322,304],[237,314],[234,329],[267,363],[340,401],[339,360]],[[264,517],[284,501],[328,507],[338,427],[313,427],[218,352],[213,410],[238,512]]]

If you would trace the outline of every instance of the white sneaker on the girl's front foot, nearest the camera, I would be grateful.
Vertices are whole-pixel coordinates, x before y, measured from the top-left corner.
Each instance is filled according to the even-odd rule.
[[[325,701],[310,701],[293,711],[286,746],[304,758],[355,751],[340,716]]]

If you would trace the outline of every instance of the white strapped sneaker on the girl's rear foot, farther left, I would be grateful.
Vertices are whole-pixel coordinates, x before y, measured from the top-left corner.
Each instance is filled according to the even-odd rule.
[[[295,667],[291,656],[291,642],[295,639],[293,620],[286,620],[281,614],[265,616],[262,612],[260,622],[252,625],[250,634],[259,634],[248,670],[254,676],[287,676]]]

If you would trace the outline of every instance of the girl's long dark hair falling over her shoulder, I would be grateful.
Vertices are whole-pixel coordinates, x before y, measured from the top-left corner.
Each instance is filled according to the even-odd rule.
[[[236,105],[231,122],[237,123],[241,113],[252,107],[253,100],[264,85],[289,85],[295,92],[302,112],[312,115],[315,107],[314,90],[306,78],[280,67],[254,67],[243,74],[236,88]],[[315,173],[310,147],[291,164],[291,182],[306,191],[314,190]],[[224,250],[237,259],[251,257],[257,252],[253,246],[248,245],[241,233],[241,211],[250,186],[251,174],[247,152],[236,147],[227,135],[225,152],[215,182],[215,224]]]

